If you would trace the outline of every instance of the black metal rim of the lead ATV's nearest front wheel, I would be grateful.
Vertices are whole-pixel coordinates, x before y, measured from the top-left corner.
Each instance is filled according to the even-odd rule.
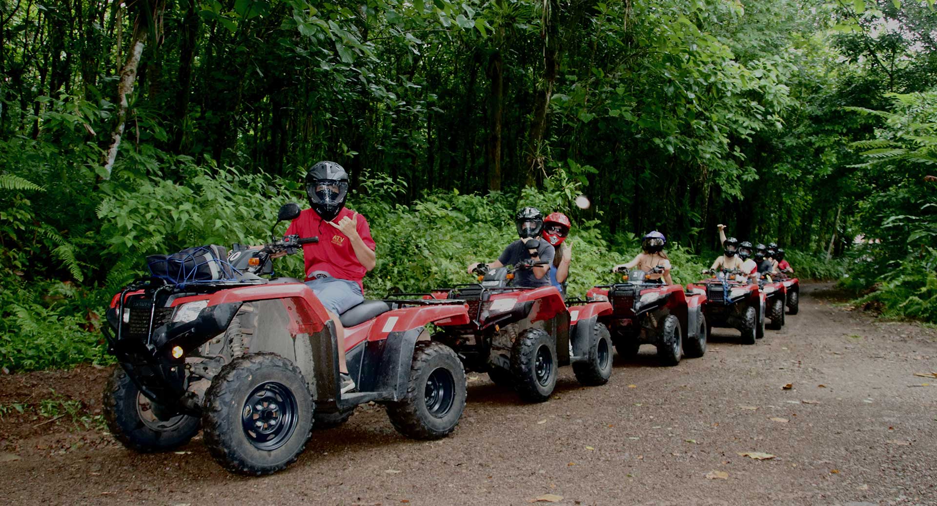
[[[298,422],[296,396],[276,381],[260,383],[244,402],[241,424],[250,444],[276,450],[286,444]]]

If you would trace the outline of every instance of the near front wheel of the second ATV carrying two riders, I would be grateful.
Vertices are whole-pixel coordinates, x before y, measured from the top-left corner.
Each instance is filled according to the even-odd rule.
[[[557,387],[557,343],[541,329],[517,335],[511,351],[514,388],[528,402],[543,402]]]

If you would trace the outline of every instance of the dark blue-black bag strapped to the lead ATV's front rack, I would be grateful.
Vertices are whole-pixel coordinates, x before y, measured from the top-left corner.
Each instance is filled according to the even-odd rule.
[[[171,285],[235,280],[237,271],[227,259],[228,249],[224,246],[197,246],[171,255],[150,255],[146,267],[150,275]]]

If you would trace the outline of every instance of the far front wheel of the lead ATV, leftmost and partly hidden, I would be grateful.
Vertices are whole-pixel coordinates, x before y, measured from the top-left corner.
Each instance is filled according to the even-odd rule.
[[[199,432],[199,418],[166,413],[141,394],[120,365],[104,387],[104,420],[118,441],[144,454],[166,452],[186,444]]]

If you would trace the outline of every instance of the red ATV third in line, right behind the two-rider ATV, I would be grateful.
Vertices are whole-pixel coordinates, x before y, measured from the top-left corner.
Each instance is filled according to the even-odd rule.
[[[600,320],[611,331],[619,355],[632,358],[642,344],[649,344],[657,347],[662,365],[677,365],[683,355],[696,358],[706,353],[708,327],[702,309],[706,294],[649,279],[647,275],[662,273],[659,267],[649,273],[625,268],[618,272],[626,273],[624,283],[592,288],[587,298],[611,304],[611,311]]]

